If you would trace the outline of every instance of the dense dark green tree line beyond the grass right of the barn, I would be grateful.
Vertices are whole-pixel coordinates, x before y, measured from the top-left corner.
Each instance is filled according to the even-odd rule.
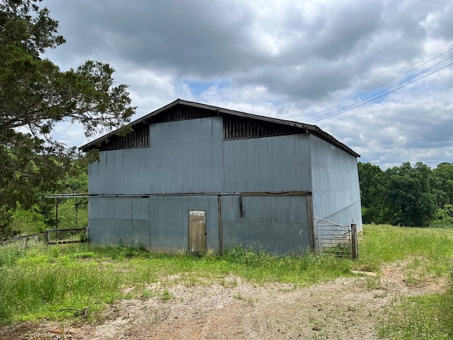
[[[362,220],[407,227],[453,225],[453,164],[405,162],[383,171],[358,163]]]

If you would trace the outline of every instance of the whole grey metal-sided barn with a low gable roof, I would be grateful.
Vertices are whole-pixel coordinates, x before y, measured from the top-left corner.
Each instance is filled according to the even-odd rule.
[[[80,147],[88,237],[166,253],[316,247],[316,219],[362,227],[359,154],[315,125],[178,99]]]

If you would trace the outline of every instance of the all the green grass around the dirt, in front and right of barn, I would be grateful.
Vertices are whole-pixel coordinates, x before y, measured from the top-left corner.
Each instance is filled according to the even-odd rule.
[[[297,288],[352,276],[351,270],[379,272],[384,263],[398,260],[407,262],[407,278],[416,284],[452,271],[453,229],[365,225],[359,252],[360,258],[351,261],[312,254],[277,257],[239,246],[224,256],[199,257],[151,254],[125,246],[8,244],[0,246],[0,324],[80,314],[96,320],[97,312],[117,299],[171,300],[168,288],[175,284],[234,287],[241,278],[256,285],[291,283]],[[395,302],[387,310],[392,317],[380,332],[388,339],[444,339],[420,337],[423,332],[453,337],[446,317],[452,314],[452,300],[449,291]],[[423,330],[426,319],[432,320],[429,331]]]

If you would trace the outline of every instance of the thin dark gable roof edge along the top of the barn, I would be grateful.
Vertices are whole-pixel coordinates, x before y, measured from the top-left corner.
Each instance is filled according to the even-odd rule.
[[[127,125],[129,125],[132,129],[134,127],[138,127],[139,125],[143,125],[143,124],[149,125],[151,123],[158,121],[159,118],[166,115],[167,111],[170,111],[171,108],[175,108],[176,106],[200,108],[205,111],[211,111],[212,115],[222,115],[222,116],[226,115],[226,116],[230,116],[230,117],[248,118],[251,120],[260,120],[262,122],[273,123],[276,125],[285,125],[290,128],[296,128],[297,130],[301,130],[301,132],[306,132],[306,133],[309,133],[316,137],[319,137],[322,140],[326,140],[326,142],[329,142],[332,145],[335,145],[336,147],[343,149],[345,152],[348,152],[348,154],[352,154],[352,156],[354,156],[354,157],[360,157],[360,154],[357,154],[357,152],[350,149],[350,147],[348,147],[347,145],[343,144],[342,142],[336,140],[336,138],[334,138],[332,135],[329,135],[327,132],[321,130],[316,125],[298,123],[298,122],[294,122],[291,120],[282,120],[282,119],[278,119],[278,118],[264,117],[262,115],[253,115],[251,113],[229,110],[227,108],[219,108],[217,106],[211,106],[211,105],[207,105],[207,104],[203,104],[203,103],[195,103],[193,101],[184,101],[183,99],[179,99],[179,98],[176,99],[176,101],[173,101],[172,103],[169,103],[168,105],[166,105],[162,108],[159,108],[156,111],[148,113],[147,115],[144,115],[142,118],[134,120],[133,122],[131,122]],[[118,132],[118,130],[109,132],[108,134],[103,135],[103,136],[97,138],[96,140],[93,140],[92,142],[88,142],[87,144],[82,145],[81,147],[79,147],[79,150],[86,152],[89,149],[96,149],[96,147],[101,145],[105,140],[108,140],[108,138],[116,136],[117,132]]]

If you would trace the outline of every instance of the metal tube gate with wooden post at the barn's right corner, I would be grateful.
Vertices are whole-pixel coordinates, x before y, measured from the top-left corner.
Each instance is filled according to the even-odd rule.
[[[345,259],[357,259],[357,229],[355,224],[338,223],[315,217],[316,244],[318,254],[332,254]]]

